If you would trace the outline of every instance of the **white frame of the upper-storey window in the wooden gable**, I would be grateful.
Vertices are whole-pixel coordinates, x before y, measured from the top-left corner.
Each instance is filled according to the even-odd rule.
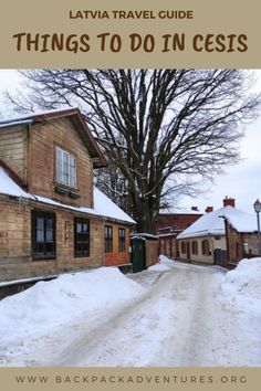
[[[61,160],[60,152],[62,154]],[[67,157],[66,170],[64,169],[65,156]],[[55,181],[72,189],[77,188],[77,157],[58,145],[55,146]]]

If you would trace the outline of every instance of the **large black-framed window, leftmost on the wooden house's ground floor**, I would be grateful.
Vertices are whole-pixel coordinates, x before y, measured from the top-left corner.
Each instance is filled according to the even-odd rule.
[[[32,257],[33,260],[55,258],[55,214],[44,211],[32,212]]]

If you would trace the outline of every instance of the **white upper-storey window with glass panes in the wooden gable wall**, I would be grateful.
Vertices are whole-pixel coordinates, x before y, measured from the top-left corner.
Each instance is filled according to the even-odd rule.
[[[56,181],[76,188],[76,157],[60,147],[56,150]]]

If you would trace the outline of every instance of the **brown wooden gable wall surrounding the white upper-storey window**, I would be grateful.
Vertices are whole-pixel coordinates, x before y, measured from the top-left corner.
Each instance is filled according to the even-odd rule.
[[[30,137],[30,192],[55,198],[69,204],[93,207],[92,160],[86,146],[71,121],[67,118],[59,118],[34,124]],[[81,196],[79,199],[61,196],[54,191],[55,184],[58,184],[55,180],[55,146],[60,146],[76,156],[76,191]]]

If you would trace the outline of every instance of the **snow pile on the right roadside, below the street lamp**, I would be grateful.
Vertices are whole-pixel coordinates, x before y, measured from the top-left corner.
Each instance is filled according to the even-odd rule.
[[[261,258],[240,261],[236,270],[227,273],[221,289],[230,298],[248,296],[261,300]]]

